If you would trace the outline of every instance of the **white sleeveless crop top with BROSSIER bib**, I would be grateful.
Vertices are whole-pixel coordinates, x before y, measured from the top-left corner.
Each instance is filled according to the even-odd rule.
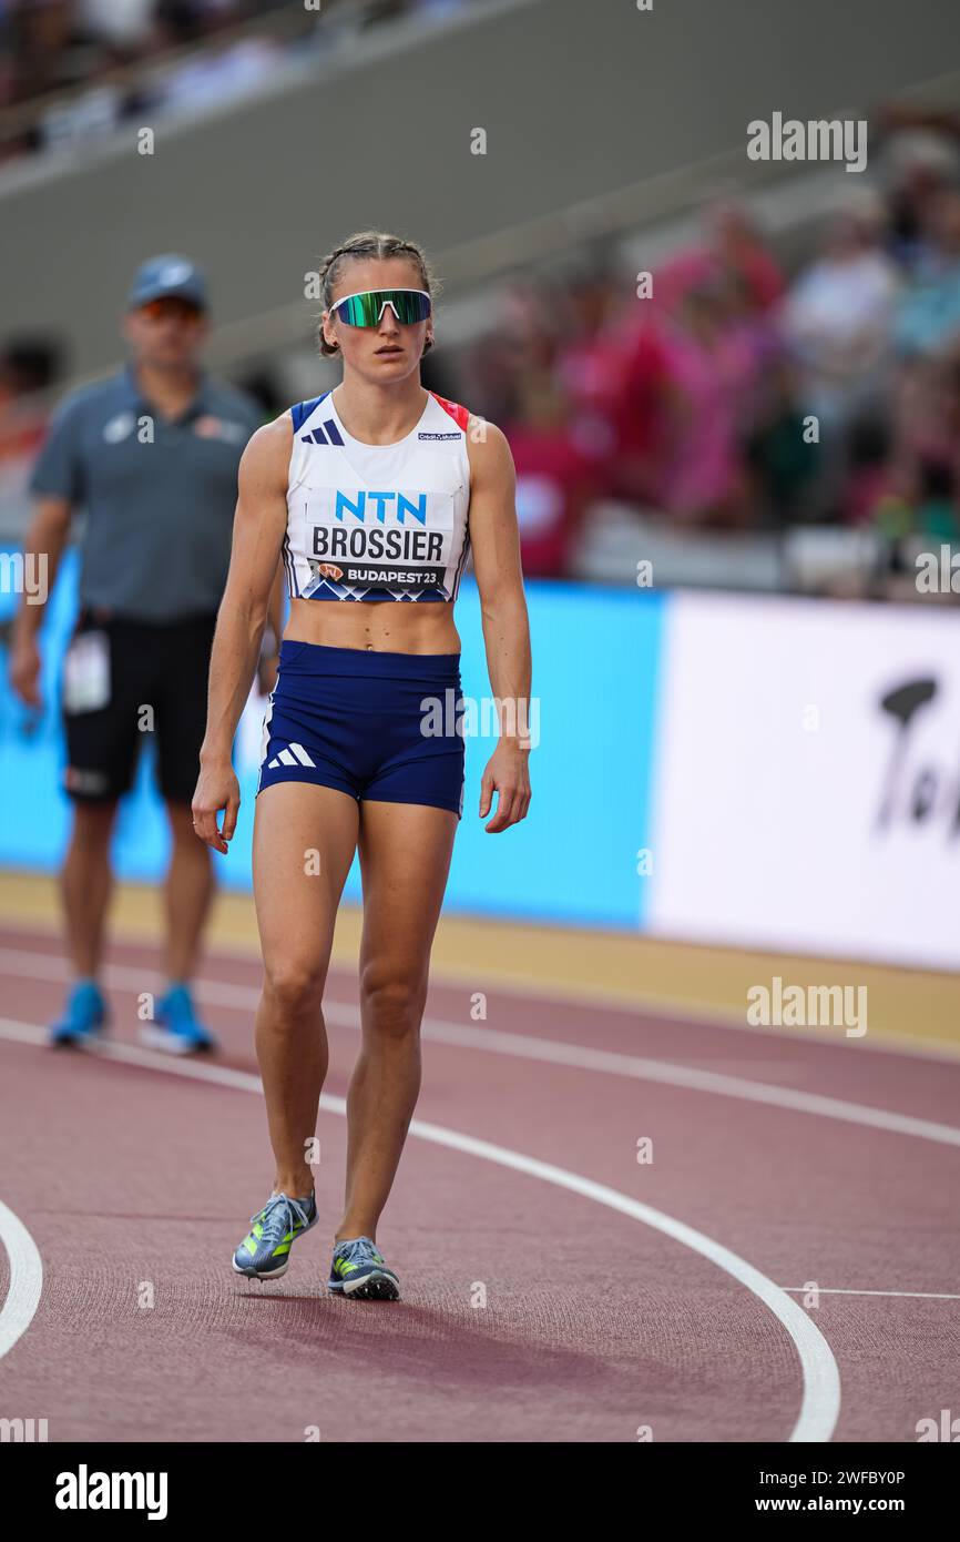
[[[290,412],[291,597],[455,600],[470,550],[467,409],[430,392],[398,444],[351,438],[330,392]]]

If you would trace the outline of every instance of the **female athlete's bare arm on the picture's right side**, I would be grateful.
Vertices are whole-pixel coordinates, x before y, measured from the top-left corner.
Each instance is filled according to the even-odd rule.
[[[472,418],[472,430],[475,426],[479,419]],[[496,793],[496,814],[485,828],[498,834],[524,819],[530,806],[530,626],[519,561],[513,456],[499,429],[492,423],[482,429],[476,441],[467,436],[470,543],[499,740],[481,782],[479,816],[487,817]]]

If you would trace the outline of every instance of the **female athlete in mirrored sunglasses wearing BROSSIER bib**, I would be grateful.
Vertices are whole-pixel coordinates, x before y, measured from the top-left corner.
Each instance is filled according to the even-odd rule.
[[[492,834],[530,802],[530,638],[507,441],[421,386],[433,344],[424,253],[396,236],[351,236],[321,279],[321,352],[342,358],[344,379],[254,433],[240,463],[193,816],[225,853],[240,802],[233,737],[282,552],[290,618],[253,834],[256,1047],[276,1169],[234,1269],[276,1278],[317,1221],[308,1156],[328,1062],[322,996],[359,851],[362,1038],[330,1291],[396,1300],[376,1232],[419,1092],[430,948],[462,814],[462,719],[445,708],[462,712],[453,601],[468,549],[501,729],[479,800]]]

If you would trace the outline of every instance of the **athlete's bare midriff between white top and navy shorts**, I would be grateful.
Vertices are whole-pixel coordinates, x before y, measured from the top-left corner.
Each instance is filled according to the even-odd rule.
[[[396,600],[291,600],[284,638],[390,654],[459,654],[453,604]]]

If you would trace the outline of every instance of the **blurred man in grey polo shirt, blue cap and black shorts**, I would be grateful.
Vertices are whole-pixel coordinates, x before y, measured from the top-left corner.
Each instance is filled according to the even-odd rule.
[[[210,851],[193,831],[191,799],[206,720],[206,674],[243,447],[260,423],[253,401],[197,365],[208,332],[200,270],[185,258],[145,262],[123,324],[131,362],[74,392],[34,469],[29,554],[45,554],[48,591],[69,535],[80,537],[80,614],[63,660],[74,823],[62,897],[76,981],[54,1044],[96,1038],[106,1022],[99,985],[111,890],[109,839],[149,734],[173,836],[166,877],[168,990],[146,1042],[186,1053],[213,1039],[197,1021],[190,978],[213,897]],[[277,586],[279,594],[279,586]],[[37,706],[43,606],[20,606],[11,682]]]

